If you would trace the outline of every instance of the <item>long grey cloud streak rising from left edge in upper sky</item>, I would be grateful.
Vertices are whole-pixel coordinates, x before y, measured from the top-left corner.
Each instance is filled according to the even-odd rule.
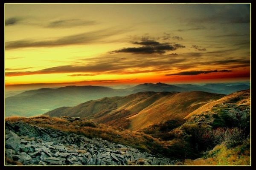
[[[127,31],[127,30],[126,30]],[[120,34],[125,32],[125,30],[114,30],[105,29],[99,31],[86,32],[82,34],[75,34],[71,36],[66,36],[58,38],[55,40],[46,41],[30,41],[30,40],[19,40],[19,41],[9,41],[6,42],[6,49],[15,48],[27,48],[27,47],[54,47],[54,46],[64,46],[64,45],[74,45],[74,44],[88,44],[102,40],[112,35]]]

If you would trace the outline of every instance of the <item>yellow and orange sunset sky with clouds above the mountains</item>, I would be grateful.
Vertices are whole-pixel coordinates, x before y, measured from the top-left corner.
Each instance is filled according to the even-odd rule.
[[[250,81],[250,4],[5,4],[6,90]]]

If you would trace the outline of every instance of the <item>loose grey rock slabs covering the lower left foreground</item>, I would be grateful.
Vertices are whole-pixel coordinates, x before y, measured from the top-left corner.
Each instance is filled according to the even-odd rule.
[[[173,165],[174,160],[142,153],[101,138],[6,122],[6,165]],[[10,163],[12,162],[12,163]]]

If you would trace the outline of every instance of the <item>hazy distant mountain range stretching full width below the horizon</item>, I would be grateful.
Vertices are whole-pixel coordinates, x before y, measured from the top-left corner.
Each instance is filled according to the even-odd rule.
[[[67,86],[62,88],[42,88],[25,91],[20,94],[6,92],[6,116],[35,116],[55,108],[76,106],[102,97],[126,96],[143,91],[205,91],[217,94],[230,94],[250,88],[241,84],[167,85],[163,83],[145,83],[126,89],[113,89],[101,86]]]

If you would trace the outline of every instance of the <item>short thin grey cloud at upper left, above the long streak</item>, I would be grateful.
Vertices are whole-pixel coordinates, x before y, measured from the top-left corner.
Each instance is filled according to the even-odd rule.
[[[58,20],[53,21],[47,25],[49,28],[67,28],[73,26],[89,26],[96,24],[95,21],[84,21],[84,20]]]

